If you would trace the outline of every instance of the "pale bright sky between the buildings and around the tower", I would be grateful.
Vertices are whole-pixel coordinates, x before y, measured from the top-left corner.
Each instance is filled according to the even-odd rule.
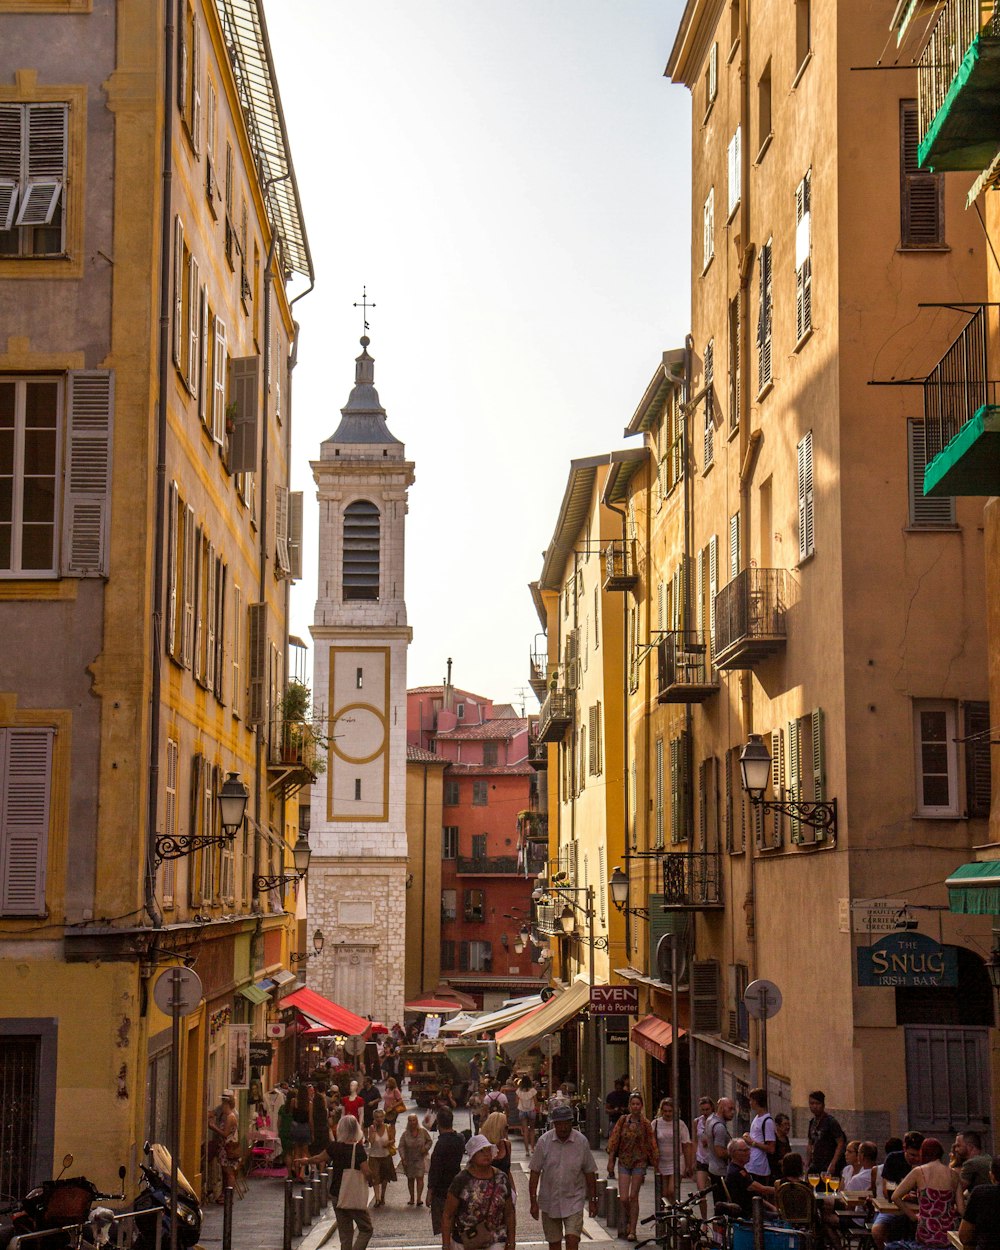
[[[622,438],[688,329],[681,0],[265,0],[316,272],[295,305],[291,632],[309,640],[309,468],[360,351],[415,462],[408,685],[536,701],[539,576],[570,460]],[[539,642],[541,640],[539,639]]]

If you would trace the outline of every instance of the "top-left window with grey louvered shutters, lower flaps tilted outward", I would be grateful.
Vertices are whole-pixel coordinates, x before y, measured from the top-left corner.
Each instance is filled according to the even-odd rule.
[[[65,104],[0,104],[0,255],[64,250]]]

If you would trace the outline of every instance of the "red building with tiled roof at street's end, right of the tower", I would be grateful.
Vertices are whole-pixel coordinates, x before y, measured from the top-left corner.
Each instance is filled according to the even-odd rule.
[[[541,951],[520,936],[546,862],[545,795],[528,759],[528,720],[450,684],[420,686],[406,695],[406,738],[448,760],[441,980],[486,1009],[541,989]]]

